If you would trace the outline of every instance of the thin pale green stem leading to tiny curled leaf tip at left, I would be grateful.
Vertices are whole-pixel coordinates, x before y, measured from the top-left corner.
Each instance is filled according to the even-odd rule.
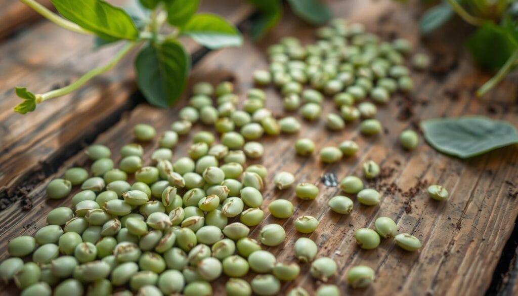
[[[54,98],[56,96],[65,95],[67,93],[71,93],[71,92],[75,91],[76,89],[80,88],[85,82],[87,82],[88,80],[92,79],[93,77],[95,77],[95,76],[97,76],[99,74],[105,73],[105,72],[109,71],[110,69],[112,69],[115,65],[117,65],[117,63],[120,62],[120,60],[122,58],[124,58],[124,55],[126,55],[128,52],[130,52],[134,47],[136,47],[139,44],[140,43],[128,43],[128,44],[126,44],[115,55],[113,60],[111,60],[108,64],[106,64],[106,65],[104,65],[102,67],[98,67],[98,68],[90,70],[89,72],[87,72],[86,74],[81,76],[78,80],[74,81],[73,83],[69,84],[66,87],[63,87],[63,88],[60,88],[60,89],[56,89],[56,90],[52,90],[52,91],[49,91],[49,92],[46,92],[46,93],[43,93],[43,94],[36,95],[36,103],[41,103],[41,102],[44,102],[46,100],[49,100],[50,98]]]

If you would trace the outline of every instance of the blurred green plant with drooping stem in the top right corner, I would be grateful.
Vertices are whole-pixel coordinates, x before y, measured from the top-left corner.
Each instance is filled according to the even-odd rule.
[[[468,38],[467,48],[477,64],[496,71],[477,91],[482,96],[500,82],[518,63],[518,3],[510,0],[443,0],[428,9],[420,31],[429,34],[447,23],[455,13],[478,29]]]

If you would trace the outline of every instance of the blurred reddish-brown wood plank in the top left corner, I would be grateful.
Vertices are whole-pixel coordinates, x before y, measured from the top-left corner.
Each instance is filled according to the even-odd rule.
[[[38,0],[45,7],[52,7],[49,0]],[[0,40],[9,36],[13,31],[22,25],[37,21],[41,16],[18,0],[0,0]]]

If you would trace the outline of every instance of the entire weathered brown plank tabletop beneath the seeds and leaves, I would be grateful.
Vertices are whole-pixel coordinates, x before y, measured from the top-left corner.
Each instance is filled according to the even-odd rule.
[[[19,5],[11,0],[3,2]],[[349,124],[343,132],[330,133],[320,120],[303,121],[303,129],[296,135],[262,140],[265,156],[253,161],[267,166],[269,171],[263,204],[266,215],[261,225],[279,223],[287,233],[281,246],[267,249],[282,261],[294,261],[295,240],[310,237],[319,245],[319,256],[332,257],[338,263],[339,271],[330,283],[339,285],[344,295],[517,294],[516,147],[459,160],[436,152],[423,140],[412,152],[402,150],[397,143],[400,131],[415,129],[420,120],[429,118],[480,114],[518,126],[516,75],[483,98],[477,98],[474,90],[490,76],[472,65],[469,54],[459,42],[470,30],[462,22],[457,20],[426,40],[420,40],[416,21],[423,7],[418,3],[401,5],[390,1],[355,0],[330,2],[330,5],[335,15],[364,23],[368,31],[380,34],[385,40],[410,39],[415,50],[430,54],[434,63],[429,72],[413,74],[415,90],[411,95],[395,95],[389,104],[379,108],[377,118],[385,128],[379,136],[359,135],[357,124]],[[218,1],[217,4],[205,1],[202,10],[220,13],[240,25],[244,32],[249,31],[253,8],[240,0]],[[8,36],[0,44],[0,207],[3,208],[0,259],[5,259],[9,239],[33,234],[45,225],[46,214],[53,207],[70,205],[69,199],[49,201],[45,188],[67,168],[89,165],[82,152],[84,146],[105,144],[111,148],[113,158],[120,159],[120,147],[133,141],[134,124],[150,123],[159,133],[168,130],[177,118],[178,109],[185,105],[189,91],[174,108],[150,107],[136,91],[132,63],[127,59],[111,73],[94,79],[74,94],[56,98],[38,106],[32,114],[21,116],[12,111],[19,102],[12,92],[14,86],[26,85],[35,92],[42,92],[66,84],[87,69],[106,62],[117,46],[92,52],[91,38],[66,32],[47,21],[38,21],[23,29],[11,25],[0,30],[3,30],[0,36]],[[268,45],[283,36],[296,36],[303,43],[310,43],[314,41],[314,32],[313,27],[285,13],[281,24],[257,44],[247,38],[242,48],[207,52],[188,42],[189,51],[196,57],[189,84],[231,79],[236,84],[236,93],[243,97],[253,86],[252,71],[267,67]],[[266,90],[267,107],[276,115],[282,115],[279,93],[274,88]],[[330,111],[336,112],[332,104],[325,104],[324,113]],[[200,130],[200,126],[194,130]],[[293,142],[301,136],[315,140],[317,151],[344,139],[354,139],[361,150],[356,157],[324,165],[316,155],[295,156]],[[182,137],[180,142],[175,148],[175,158],[185,154],[190,136]],[[145,157],[149,158],[156,146],[156,143],[146,145]],[[381,190],[382,202],[379,206],[366,207],[355,201],[350,215],[330,211],[327,201],[340,190],[325,187],[320,177],[324,173],[335,173],[339,179],[360,175],[360,165],[368,159],[383,168],[383,177],[369,183]],[[278,171],[294,173],[297,182],[318,185],[319,197],[311,202],[300,201],[293,188],[275,190],[272,178]],[[450,191],[451,198],[447,202],[430,200],[425,192],[427,184],[442,184]],[[294,203],[292,218],[276,219],[268,214],[268,203],[277,198]],[[320,220],[318,230],[310,235],[301,235],[293,228],[294,219],[304,214]],[[399,231],[419,237],[423,248],[419,252],[407,252],[387,239],[375,250],[359,249],[354,242],[354,230],[372,228],[373,220],[379,216],[393,218]],[[252,237],[257,237],[261,225],[253,228]],[[348,269],[358,264],[369,265],[376,271],[376,282],[368,289],[352,290],[346,284]],[[309,276],[308,269],[308,265],[301,265],[301,275],[293,282],[284,283],[283,293],[299,285],[314,291],[319,283]],[[215,281],[215,294],[224,293],[224,281]],[[3,291],[3,294],[16,293],[12,285]]]

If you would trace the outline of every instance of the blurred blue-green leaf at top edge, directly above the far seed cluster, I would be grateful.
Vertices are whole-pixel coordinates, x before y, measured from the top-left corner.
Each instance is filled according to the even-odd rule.
[[[320,0],[288,0],[288,3],[295,15],[312,25],[324,24],[333,17],[331,10]]]

